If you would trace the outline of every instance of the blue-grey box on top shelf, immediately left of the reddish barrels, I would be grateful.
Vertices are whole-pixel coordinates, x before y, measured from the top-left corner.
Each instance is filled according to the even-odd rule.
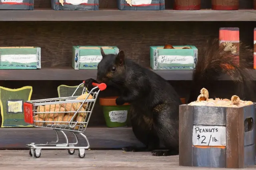
[[[164,0],[117,0],[119,10],[164,10]]]

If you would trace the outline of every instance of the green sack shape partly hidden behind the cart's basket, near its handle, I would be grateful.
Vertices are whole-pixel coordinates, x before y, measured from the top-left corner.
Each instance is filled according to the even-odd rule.
[[[60,85],[60,86],[58,86],[58,89],[57,89],[58,90],[58,96],[59,97],[70,97],[70,96],[73,95],[73,93],[74,93],[74,91],[76,90],[77,87],[78,87],[78,85],[77,86]],[[84,86],[81,85],[77,89],[77,91],[74,94],[74,96],[82,95],[83,89],[84,89]]]

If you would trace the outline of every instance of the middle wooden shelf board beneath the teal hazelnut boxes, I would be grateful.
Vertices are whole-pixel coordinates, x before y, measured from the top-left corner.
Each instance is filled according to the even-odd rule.
[[[248,70],[256,80],[256,70]],[[192,70],[154,70],[166,80],[192,80]],[[95,78],[97,70],[74,70],[72,67],[48,67],[42,69],[1,69],[0,80],[85,80]],[[222,75],[220,80],[231,80]]]

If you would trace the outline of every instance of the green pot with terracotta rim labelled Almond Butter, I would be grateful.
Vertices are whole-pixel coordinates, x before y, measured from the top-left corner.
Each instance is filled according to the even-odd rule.
[[[129,103],[124,103],[124,105],[118,106],[116,105],[116,98],[100,98],[106,125],[107,127],[126,127],[130,105]]]

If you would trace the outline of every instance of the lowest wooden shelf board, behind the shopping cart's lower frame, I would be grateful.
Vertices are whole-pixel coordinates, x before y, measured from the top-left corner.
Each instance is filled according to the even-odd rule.
[[[66,132],[68,139],[73,141],[72,133]],[[87,136],[92,149],[122,149],[125,146],[143,146],[136,139],[132,128],[88,127],[84,134]],[[0,149],[26,148],[31,142],[43,143],[56,140],[54,130],[50,128],[0,128]],[[65,142],[59,133],[60,142]],[[78,135],[79,146],[86,146],[85,140]]]

